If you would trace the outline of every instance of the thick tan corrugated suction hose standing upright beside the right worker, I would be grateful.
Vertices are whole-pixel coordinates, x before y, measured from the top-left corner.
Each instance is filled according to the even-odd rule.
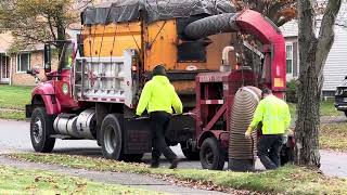
[[[229,164],[231,164],[229,168],[233,170],[254,169],[254,159],[257,155],[257,133],[254,131],[250,140],[245,139],[244,134],[252,122],[260,98],[261,91],[255,87],[242,87],[235,94],[231,110],[229,141]],[[243,166],[248,162],[253,165]]]

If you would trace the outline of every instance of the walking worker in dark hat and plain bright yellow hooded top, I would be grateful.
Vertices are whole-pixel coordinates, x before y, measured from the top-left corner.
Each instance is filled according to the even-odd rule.
[[[145,83],[139,104],[137,115],[141,116],[147,109],[152,129],[152,168],[159,166],[162,153],[171,162],[170,169],[177,168],[179,159],[165,141],[165,134],[172,114],[172,108],[177,114],[182,114],[182,102],[177,95],[174,86],[166,76],[166,69],[158,65],[153,69],[153,78]]]

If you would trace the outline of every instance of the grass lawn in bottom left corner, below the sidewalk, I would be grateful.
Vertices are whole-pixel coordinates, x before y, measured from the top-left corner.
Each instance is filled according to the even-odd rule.
[[[0,194],[158,194],[64,174],[0,166]]]

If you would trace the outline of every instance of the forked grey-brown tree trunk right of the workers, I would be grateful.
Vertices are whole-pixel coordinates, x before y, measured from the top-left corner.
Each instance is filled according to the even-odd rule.
[[[298,44],[300,75],[295,126],[295,162],[300,166],[320,167],[319,129],[323,68],[334,42],[334,25],[340,0],[329,0],[323,11],[319,32],[313,0],[298,0]]]

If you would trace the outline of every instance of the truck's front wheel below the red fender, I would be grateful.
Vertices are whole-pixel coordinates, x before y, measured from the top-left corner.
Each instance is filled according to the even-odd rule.
[[[36,152],[52,152],[55,144],[55,139],[50,138],[54,133],[53,120],[54,117],[47,115],[43,107],[34,109],[30,120],[30,140]]]

